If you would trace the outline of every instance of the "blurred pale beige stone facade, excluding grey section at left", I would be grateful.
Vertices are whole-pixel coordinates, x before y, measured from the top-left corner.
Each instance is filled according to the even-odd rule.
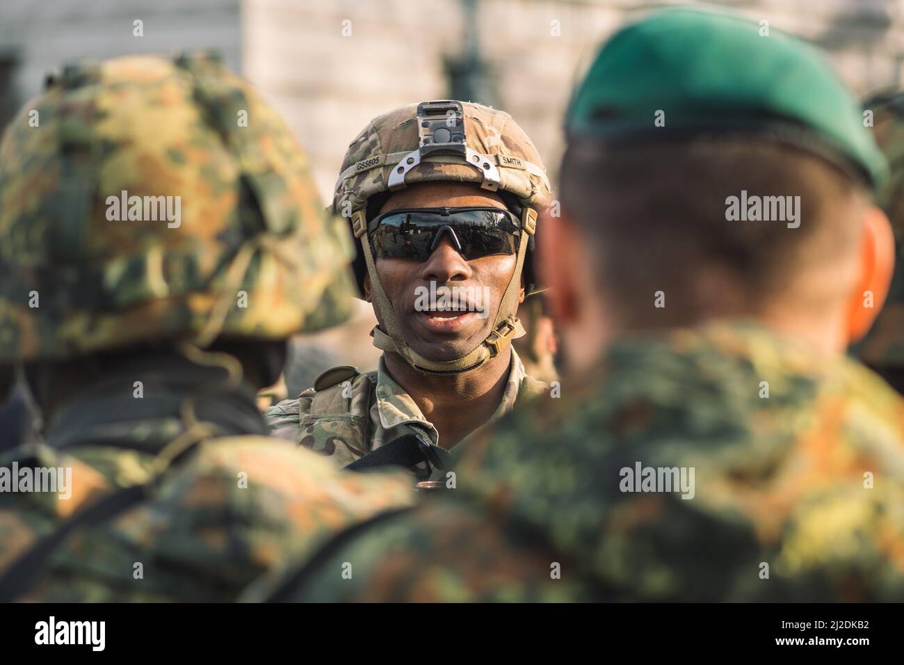
[[[345,147],[373,116],[401,104],[447,99],[479,56],[483,101],[512,113],[554,175],[560,119],[598,43],[641,0],[243,0],[245,73],[309,147],[331,196]],[[858,93],[904,76],[901,0],[716,2],[829,52]],[[457,80],[458,79],[458,80]],[[805,91],[802,91],[805,93]]]

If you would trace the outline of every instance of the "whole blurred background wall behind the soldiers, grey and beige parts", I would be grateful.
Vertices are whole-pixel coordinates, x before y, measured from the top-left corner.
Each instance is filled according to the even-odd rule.
[[[345,147],[373,116],[459,97],[509,111],[551,174],[565,104],[598,43],[641,0],[0,0],[0,123],[60,62],[215,48],[254,81],[308,148],[325,202]],[[904,0],[725,0],[829,54],[859,94],[904,82]],[[133,34],[143,21],[144,36]],[[805,93],[805,90],[802,90]],[[373,366],[367,305],[299,341]],[[330,354],[321,354],[323,357]],[[316,374],[314,372],[314,374]]]

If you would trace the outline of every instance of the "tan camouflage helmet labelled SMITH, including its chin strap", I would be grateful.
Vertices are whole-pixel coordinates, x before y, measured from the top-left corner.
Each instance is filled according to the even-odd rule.
[[[405,340],[377,275],[367,221],[391,192],[422,182],[475,183],[520,207],[522,233],[512,280],[504,291],[490,335],[466,356],[433,361]],[[373,329],[376,347],[396,351],[425,374],[457,374],[498,355],[523,328],[514,316],[523,266],[530,264],[537,211],[549,204],[550,182],[531,139],[504,111],[453,100],[425,101],[391,110],[371,121],[352,141],[336,181],[333,212],[349,219],[358,242],[359,290],[364,275],[386,330]],[[509,203],[511,202],[511,203]],[[525,270],[525,274],[529,271]],[[530,277],[528,280],[530,281]],[[530,285],[528,284],[528,288]]]

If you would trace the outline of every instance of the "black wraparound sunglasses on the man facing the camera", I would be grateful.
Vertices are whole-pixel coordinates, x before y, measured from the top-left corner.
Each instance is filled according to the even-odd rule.
[[[518,251],[521,222],[503,208],[391,210],[367,225],[378,259],[427,261],[444,235],[466,261]]]

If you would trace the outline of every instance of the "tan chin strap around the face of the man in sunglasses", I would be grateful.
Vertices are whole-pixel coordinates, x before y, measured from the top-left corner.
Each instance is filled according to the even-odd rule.
[[[530,236],[533,235],[536,225],[536,211],[525,207],[522,216],[524,233],[521,234],[521,239],[518,243],[514,272],[508,286],[505,287],[503,299],[499,303],[499,309],[496,311],[496,318],[490,334],[466,356],[453,360],[430,360],[419,355],[417,351],[411,348],[402,335],[399,319],[396,318],[395,310],[392,309],[392,303],[386,295],[386,290],[383,289],[379,275],[377,275],[371,242],[367,237],[367,233],[365,233],[367,226],[364,220],[364,211],[359,210],[354,213],[352,216],[352,227],[355,236],[361,239],[364,261],[367,264],[367,273],[371,278],[373,304],[376,305],[377,311],[380,312],[383,325],[386,327],[385,332],[379,326],[373,328],[371,332],[373,346],[383,351],[393,351],[402,356],[410,366],[419,372],[431,375],[461,374],[483,365],[490,358],[498,356],[515,337],[522,337],[525,334],[521,322],[514,316],[514,311],[518,306],[518,293],[521,290],[521,273],[524,265],[524,256],[527,253],[527,243]]]

